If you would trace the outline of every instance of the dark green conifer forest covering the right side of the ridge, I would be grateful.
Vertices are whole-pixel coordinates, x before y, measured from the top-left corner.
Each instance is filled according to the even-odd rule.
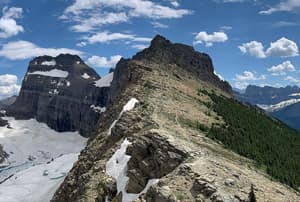
[[[300,187],[300,134],[259,109],[231,98],[206,93],[212,108],[223,117],[225,125],[213,125],[207,136],[253,159],[279,181]],[[195,124],[195,123],[191,123]],[[200,130],[202,130],[200,128]]]

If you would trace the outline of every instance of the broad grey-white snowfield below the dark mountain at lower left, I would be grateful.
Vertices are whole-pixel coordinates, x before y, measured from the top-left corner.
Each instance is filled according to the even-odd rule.
[[[9,154],[0,164],[0,202],[47,202],[86,144],[77,132],[59,133],[35,119],[5,117],[0,144]]]

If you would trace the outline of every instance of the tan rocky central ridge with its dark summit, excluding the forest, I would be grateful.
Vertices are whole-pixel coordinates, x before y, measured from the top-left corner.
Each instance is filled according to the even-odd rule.
[[[249,194],[299,201],[296,191],[207,137],[226,119],[202,92],[231,97],[211,64],[161,36],[121,60],[108,110],[52,201],[247,201]]]

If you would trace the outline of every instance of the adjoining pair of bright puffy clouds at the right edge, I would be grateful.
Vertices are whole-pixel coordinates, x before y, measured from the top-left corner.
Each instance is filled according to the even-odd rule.
[[[266,51],[263,44],[258,41],[244,43],[238,48],[242,53],[249,53],[250,55],[258,58],[298,56],[297,44],[285,37],[282,37],[275,42],[271,42]]]

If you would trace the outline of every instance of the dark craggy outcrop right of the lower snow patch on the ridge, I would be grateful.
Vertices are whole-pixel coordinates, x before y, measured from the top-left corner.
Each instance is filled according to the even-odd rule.
[[[130,146],[127,153],[132,156],[128,162],[128,193],[143,191],[149,179],[159,179],[180,165],[188,156],[164,141],[159,134],[148,134]]]

